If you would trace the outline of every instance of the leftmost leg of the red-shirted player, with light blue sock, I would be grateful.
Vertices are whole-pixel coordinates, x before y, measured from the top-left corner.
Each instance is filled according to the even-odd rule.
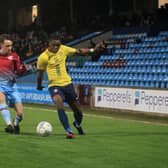
[[[5,128],[6,132],[13,133],[13,127],[11,122],[11,115],[8,110],[8,106],[6,104],[6,96],[3,92],[0,91],[0,111],[2,114],[2,117],[7,125]]]

